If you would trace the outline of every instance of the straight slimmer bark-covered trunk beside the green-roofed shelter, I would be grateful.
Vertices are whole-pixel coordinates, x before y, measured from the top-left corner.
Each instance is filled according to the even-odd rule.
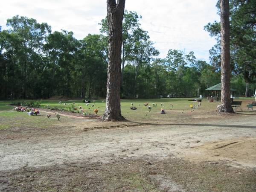
[[[221,0],[221,106],[219,112],[232,113],[230,100],[230,21],[229,0]]]

